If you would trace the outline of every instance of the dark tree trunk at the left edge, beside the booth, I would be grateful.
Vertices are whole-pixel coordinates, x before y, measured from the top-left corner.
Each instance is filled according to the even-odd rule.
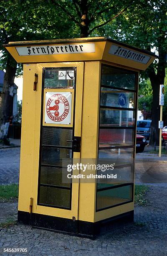
[[[0,102],[0,125],[8,122],[13,115],[13,95],[11,91],[15,79],[17,63],[15,62],[13,65],[14,66],[11,66],[10,59],[8,59]]]

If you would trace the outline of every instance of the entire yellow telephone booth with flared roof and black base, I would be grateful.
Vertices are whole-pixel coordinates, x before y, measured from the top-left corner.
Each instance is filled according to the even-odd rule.
[[[4,46],[24,64],[18,222],[94,237],[132,221],[139,70],[157,56],[105,37]]]

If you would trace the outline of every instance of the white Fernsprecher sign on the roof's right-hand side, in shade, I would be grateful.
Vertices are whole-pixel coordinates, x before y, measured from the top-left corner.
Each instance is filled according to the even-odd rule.
[[[133,61],[137,61],[143,64],[147,64],[147,62],[150,60],[151,57],[141,54],[137,51],[128,50],[124,47],[117,46],[117,45],[111,45],[109,49],[109,54],[116,55],[119,57],[122,57],[124,59],[130,59]]]

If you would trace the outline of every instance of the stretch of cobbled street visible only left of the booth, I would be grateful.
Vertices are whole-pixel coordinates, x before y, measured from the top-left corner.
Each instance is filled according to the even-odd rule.
[[[20,147],[0,149],[0,184],[18,183]]]

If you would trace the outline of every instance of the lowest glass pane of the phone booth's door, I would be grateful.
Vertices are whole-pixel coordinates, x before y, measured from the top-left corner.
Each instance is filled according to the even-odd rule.
[[[70,208],[70,190],[40,186],[39,203]]]

